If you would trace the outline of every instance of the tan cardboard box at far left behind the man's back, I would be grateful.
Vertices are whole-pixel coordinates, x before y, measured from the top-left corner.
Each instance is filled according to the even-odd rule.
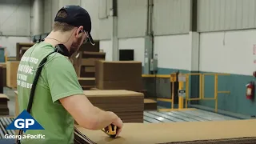
[[[6,62],[6,86],[11,88],[17,87],[17,71],[19,61]]]

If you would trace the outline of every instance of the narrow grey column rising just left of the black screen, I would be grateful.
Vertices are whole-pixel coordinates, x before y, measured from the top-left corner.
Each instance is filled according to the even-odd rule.
[[[118,1],[112,1],[112,11],[111,11],[111,22],[112,22],[112,34],[111,34],[111,42],[112,42],[112,57],[113,61],[119,61],[119,49],[118,49]]]

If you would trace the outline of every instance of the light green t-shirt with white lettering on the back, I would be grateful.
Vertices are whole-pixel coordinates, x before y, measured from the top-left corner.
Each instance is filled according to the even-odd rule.
[[[20,113],[26,110],[28,105],[30,89],[39,63],[53,51],[53,46],[40,42],[26,50],[23,55],[17,74]],[[51,54],[38,79],[30,113],[45,130],[27,130],[25,133],[42,134],[45,138],[22,139],[22,143],[74,143],[74,118],[58,101],[74,94],[83,94],[74,66],[62,54]]]

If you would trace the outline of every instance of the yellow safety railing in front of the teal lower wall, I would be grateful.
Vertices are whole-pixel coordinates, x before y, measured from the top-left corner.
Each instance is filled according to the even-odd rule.
[[[190,76],[199,76],[199,94],[198,98],[190,98],[189,93],[189,86],[190,86]],[[214,76],[214,98],[205,98],[205,77],[206,75]],[[185,77],[186,80],[178,80],[176,78],[176,74],[170,75],[154,75],[154,74],[142,74],[143,78],[170,78],[170,82],[172,83],[171,87],[171,98],[157,98],[158,101],[162,102],[171,102],[171,110],[174,109],[174,82],[178,82],[178,90],[184,90],[184,82],[185,82],[185,90],[186,90],[186,97],[185,97],[185,107],[187,109],[188,102],[190,101],[198,101],[198,100],[214,100],[215,102],[215,112],[218,112],[218,94],[230,94],[230,91],[218,91],[218,76],[219,75],[230,75],[230,74],[200,74],[200,73],[191,73],[191,74],[178,74],[178,77]],[[184,98],[182,96],[178,96],[178,109],[184,109]]]

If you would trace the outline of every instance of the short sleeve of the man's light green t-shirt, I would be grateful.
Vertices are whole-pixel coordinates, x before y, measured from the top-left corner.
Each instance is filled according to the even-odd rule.
[[[74,94],[83,94],[78,76],[69,59],[57,56],[46,63],[45,70],[53,102]]]

